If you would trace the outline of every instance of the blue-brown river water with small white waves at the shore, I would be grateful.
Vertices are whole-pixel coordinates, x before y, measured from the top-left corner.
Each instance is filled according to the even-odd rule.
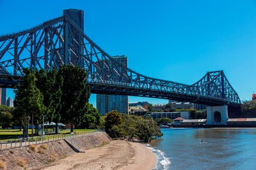
[[[161,129],[156,169],[256,169],[256,129]],[[204,143],[201,143],[204,140]]]

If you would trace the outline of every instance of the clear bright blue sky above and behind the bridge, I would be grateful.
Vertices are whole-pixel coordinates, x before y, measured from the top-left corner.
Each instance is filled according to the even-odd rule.
[[[192,84],[207,71],[224,70],[242,101],[256,92],[256,1],[0,0],[0,34],[28,29],[69,8],[84,10],[85,34],[109,55],[126,55],[138,73]],[[7,97],[14,99],[12,90]],[[90,103],[95,106],[95,94]]]

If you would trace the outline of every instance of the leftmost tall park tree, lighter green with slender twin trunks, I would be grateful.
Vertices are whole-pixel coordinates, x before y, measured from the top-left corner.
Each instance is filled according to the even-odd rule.
[[[23,68],[22,71],[25,74],[24,85],[19,84],[14,90],[14,106],[19,108],[19,113],[28,117],[28,126],[29,116],[31,115],[33,136],[34,115],[36,115],[36,117],[41,117],[46,109],[43,104],[44,96],[42,95],[42,93],[40,93],[40,90],[38,90],[35,85],[37,79],[33,69]]]

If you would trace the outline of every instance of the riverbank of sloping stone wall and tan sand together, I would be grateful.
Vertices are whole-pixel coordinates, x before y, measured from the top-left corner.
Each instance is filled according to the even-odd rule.
[[[154,169],[157,156],[146,146],[111,140],[106,132],[76,137],[76,153],[59,139],[0,152],[0,169]]]

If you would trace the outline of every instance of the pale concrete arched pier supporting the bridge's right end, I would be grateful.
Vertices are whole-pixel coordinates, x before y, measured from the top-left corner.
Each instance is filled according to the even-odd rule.
[[[228,120],[228,106],[207,106],[207,123],[214,123],[215,111],[220,111],[221,123],[226,124]]]

